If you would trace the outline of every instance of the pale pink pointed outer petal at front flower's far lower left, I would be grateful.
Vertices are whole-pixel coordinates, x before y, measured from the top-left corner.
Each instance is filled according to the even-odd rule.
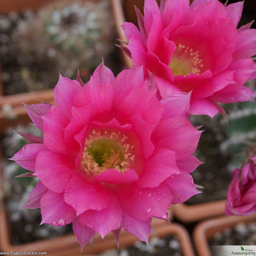
[[[29,208],[29,209],[37,209],[40,208],[40,201],[43,195],[48,191],[48,189],[43,185],[41,181],[38,181],[36,183],[36,187],[30,192],[27,203],[20,207],[23,208]]]

